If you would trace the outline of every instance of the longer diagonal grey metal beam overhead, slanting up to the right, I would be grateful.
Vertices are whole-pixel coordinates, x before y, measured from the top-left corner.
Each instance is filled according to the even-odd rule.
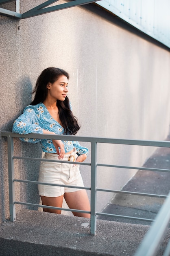
[[[23,13],[22,18],[23,19],[24,18],[30,18],[30,17],[41,15],[41,14],[50,13],[50,12],[53,12],[53,11],[59,11],[59,10],[62,10],[62,9],[67,9],[67,8],[70,8],[70,7],[75,7],[75,6],[79,6],[79,5],[83,5],[83,4],[90,4],[90,3],[93,3],[93,2],[97,2],[97,1],[100,1],[100,0],[74,0],[74,1],[71,1],[71,2],[64,3],[64,4],[59,4],[59,5],[56,5],[56,6],[47,7],[45,9],[40,9],[42,7],[39,8],[39,6],[37,6],[34,9],[31,9],[31,10],[26,11],[25,13]],[[57,1],[49,0],[49,1],[47,1],[47,3],[48,2],[57,2]],[[48,5],[50,5],[50,3]]]

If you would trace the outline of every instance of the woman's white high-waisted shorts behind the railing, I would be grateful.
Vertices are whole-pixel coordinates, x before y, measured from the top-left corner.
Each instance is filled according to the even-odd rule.
[[[38,181],[51,184],[84,187],[79,165],[76,164],[76,166],[73,167],[75,162],[73,162],[73,164],[62,163],[62,161],[73,161],[72,155],[74,155],[74,159],[78,157],[76,151],[74,151],[71,154],[65,154],[63,159],[60,159],[61,163],[42,161]],[[59,160],[58,156],[59,155],[57,154],[45,153],[43,159]],[[57,197],[63,195],[65,192],[75,192],[81,189],[38,184],[38,190],[39,195]]]

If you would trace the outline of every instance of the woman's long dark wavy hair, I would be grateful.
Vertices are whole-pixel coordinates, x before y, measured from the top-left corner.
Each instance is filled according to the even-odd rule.
[[[30,105],[36,105],[43,102],[48,94],[48,83],[54,83],[62,75],[69,79],[69,74],[60,68],[48,67],[43,70],[37,79],[35,89],[33,90],[35,97]],[[64,101],[57,100],[57,107],[59,109],[59,118],[64,128],[64,134],[75,135],[80,129],[80,126],[76,117],[72,114],[68,97],[66,97]]]

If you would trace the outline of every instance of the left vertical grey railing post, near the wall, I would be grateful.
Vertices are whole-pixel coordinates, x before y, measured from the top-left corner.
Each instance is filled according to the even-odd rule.
[[[15,221],[15,188],[14,188],[14,163],[13,163],[13,137],[8,136],[8,180],[9,180],[9,213],[10,220]]]

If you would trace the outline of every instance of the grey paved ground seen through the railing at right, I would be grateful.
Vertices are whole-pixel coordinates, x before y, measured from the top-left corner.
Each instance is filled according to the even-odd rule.
[[[170,140],[168,137],[166,140]],[[143,167],[170,169],[170,148],[158,148]],[[170,173],[157,171],[137,171],[136,175],[123,187],[124,191],[168,195]],[[154,219],[164,199],[135,195],[116,194],[102,211],[124,216]],[[98,219],[150,225],[151,222],[98,216]]]

